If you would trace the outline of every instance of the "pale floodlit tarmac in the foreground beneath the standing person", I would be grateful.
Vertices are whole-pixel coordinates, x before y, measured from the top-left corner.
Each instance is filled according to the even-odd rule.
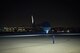
[[[80,36],[1,37],[0,53],[80,53]]]

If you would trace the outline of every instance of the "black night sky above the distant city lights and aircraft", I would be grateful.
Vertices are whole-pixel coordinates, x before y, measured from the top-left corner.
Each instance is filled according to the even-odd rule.
[[[2,1],[1,26],[30,26],[48,21],[51,26],[80,27],[78,1]]]

